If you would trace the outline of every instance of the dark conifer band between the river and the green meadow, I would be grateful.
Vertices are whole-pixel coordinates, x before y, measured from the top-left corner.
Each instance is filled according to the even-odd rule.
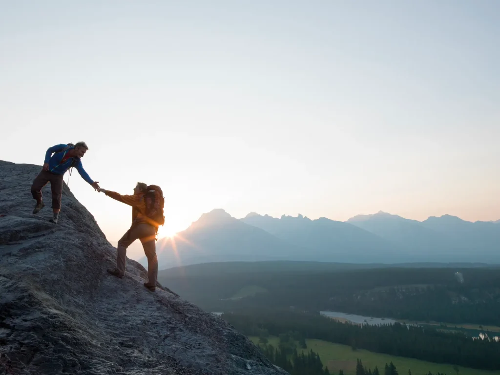
[[[473,340],[462,333],[448,333],[400,323],[368,325],[335,321],[319,314],[286,310],[261,310],[222,317],[246,335],[298,332],[304,338],[350,345],[374,352],[449,363],[477,369],[500,369],[500,342]]]

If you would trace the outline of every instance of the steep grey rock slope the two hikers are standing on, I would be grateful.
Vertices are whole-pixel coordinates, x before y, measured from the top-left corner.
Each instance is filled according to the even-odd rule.
[[[31,213],[40,166],[0,160],[0,373],[286,374],[222,319],[157,286],[64,185],[59,222]]]

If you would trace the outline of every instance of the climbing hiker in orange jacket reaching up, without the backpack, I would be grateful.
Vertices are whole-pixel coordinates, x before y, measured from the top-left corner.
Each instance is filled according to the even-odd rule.
[[[121,195],[105,189],[100,189],[100,191],[119,202],[132,206],[132,225],[118,241],[116,267],[107,269],[107,272],[119,278],[123,277],[125,274],[126,249],[133,241],[139,239],[147,257],[148,281],[144,282],[144,286],[154,291],[158,278],[158,258],[156,257],[155,243],[158,226],[145,214],[144,195],[147,192],[147,185],[143,182],[137,182],[133,189],[133,195]]]

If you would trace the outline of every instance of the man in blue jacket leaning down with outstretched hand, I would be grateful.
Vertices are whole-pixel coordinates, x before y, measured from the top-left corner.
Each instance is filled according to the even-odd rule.
[[[100,187],[98,181],[93,181],[90,176],[83,169],[81,164],[81,158],[88,150],[85,142],[78,142],[76,144],[56,144],[55,146],[47,149],[45,153],[45,160],[43,162],[43,168],[40,173],[36,176],[31,185],[31,194],[33,199],[36,199],[36,205],[33,209],[33,213],[38,213],[45,204],[41,198],[41,189],[43,186],[50,182],[50,189],[52,190],[52,209],[53,218],[49,221],[57,223],[57,218],[59,216],[59,211],[61,208],[61,198],[62,198],[62,178],[64,173],[70,167],[74,166],[80,176],[87,181],[92,187],[99,191]],[[53,155],[52,155],[53,154]]]

